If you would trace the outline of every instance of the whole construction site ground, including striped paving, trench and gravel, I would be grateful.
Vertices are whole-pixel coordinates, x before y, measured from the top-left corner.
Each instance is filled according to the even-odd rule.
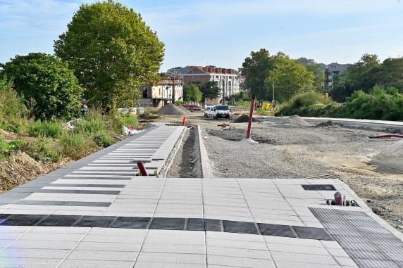
[[[160,114],[0,195],[1,267],[403,267],[402,122]]]

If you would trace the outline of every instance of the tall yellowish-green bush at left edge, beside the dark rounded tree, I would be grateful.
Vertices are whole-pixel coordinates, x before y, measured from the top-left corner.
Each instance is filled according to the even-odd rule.
[[[23,105],[13,84],[7,79],[0,79],[0,128],[10,132],[25,130],[28,110]]]

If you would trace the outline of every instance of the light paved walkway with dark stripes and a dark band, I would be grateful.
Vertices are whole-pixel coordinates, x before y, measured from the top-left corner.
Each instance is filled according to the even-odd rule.
[[[156,124],[0,196],[0,267],[403,267],[403,236],[337,179],[159,174]],[[340,191],[358,206],[326,205]]]

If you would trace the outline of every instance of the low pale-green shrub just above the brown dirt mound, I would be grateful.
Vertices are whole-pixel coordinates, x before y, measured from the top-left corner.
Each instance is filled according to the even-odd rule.
[[[23,150],[38,161],[58,162],[62,158],[60,144],[54,139],[38,136],[35,139],[30,139],[23,145]]]

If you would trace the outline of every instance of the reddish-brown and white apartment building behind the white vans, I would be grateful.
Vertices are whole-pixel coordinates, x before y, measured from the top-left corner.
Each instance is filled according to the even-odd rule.
[[[187,66],[183,68],[186,72],[182,72],[184,84],[192,82],[217,82],[221,89],[221,94],[216,102],[220,102],[223,98],[233,96],[240,92],[240,74],[234,69],[217,68],[209,65],[203,66]]]

